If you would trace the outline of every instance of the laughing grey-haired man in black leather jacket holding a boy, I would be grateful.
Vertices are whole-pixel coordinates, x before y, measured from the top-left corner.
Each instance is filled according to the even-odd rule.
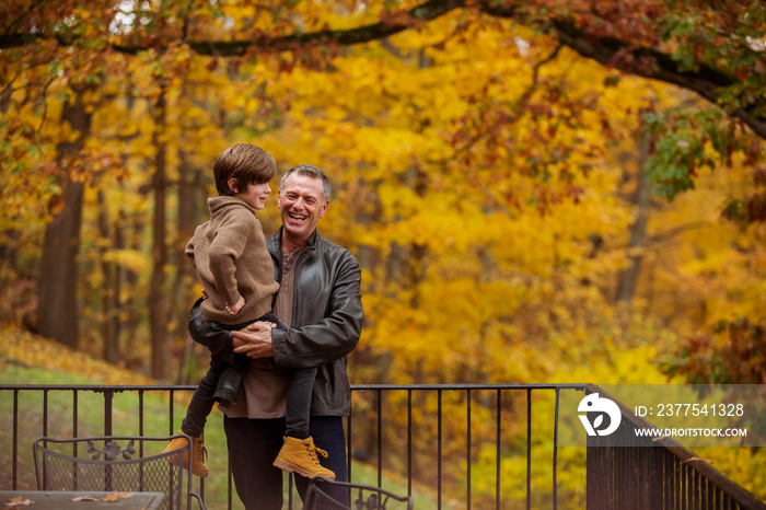
[[[336,479],[348,479],[343,417],[351,409],[351,390],[346,357],[361,334],[361,269],[348,250],[316,231],[329,206],[329,192],[327,176],[312,165],[290,169],[280,184],[277,205],[282,227],[267,239],[267,247],[280,282],[274,312],[288,331],[255,323],[229,333],[205,320],[199,302],[189,317],[192,337],[213,353],[232,364],[236,353],[252,358],[241,387],[232,369],[217,391],[224,398],[219,408],[224,414],[234,484],[247,510],[282,507],[282,472],[271,465],[285,432],[288,379],[279,369],[318,369],[310,432],[328,453],[320,457],[322,465],[335,472]],[[307,482],[295,477],[301,495]],[[332,496],[348,503],[346,490]]]

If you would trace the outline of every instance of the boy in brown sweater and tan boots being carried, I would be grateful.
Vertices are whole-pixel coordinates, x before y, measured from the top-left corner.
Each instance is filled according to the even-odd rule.
[[[279,283],[274,280],[271,256],[266,248],[260,221],[255,216],[255,210],[262,210],[266,205],[271,193],[268,183],[276,172],[274,158],[256,146],[237,143],[221,152],[213,165],[219,196],[208,199],[210,220],[197,227],[186,245],[186,255],[207,294],[201,303],[205,317],[230,331],[241,329],[256,321],[286,328],[271,312]],[[246,370],[249,358],[237,355],[235,361]],[[211,356],[210,370],[199,382],[181,426],[181,432],[190,436],[194,442],[192,472],[201,477],[209,473],[204,463],[202,429],[218,399],[214,392],[225,368],[223,360]],[[322,467],[316,456],[317,453],[327,456],[326,452],[314,447],[309,436],[315,376],[316,369],[291,372],[285,444],[275,465],[310,478],[321,475],[335,479],[335,473]],[[184,439],[174,439],[165,451],[176,450],[185,443]],[[176,461],[182,462],[181,459]],[[187,465],[188,459],[184,462],[184,466]]]

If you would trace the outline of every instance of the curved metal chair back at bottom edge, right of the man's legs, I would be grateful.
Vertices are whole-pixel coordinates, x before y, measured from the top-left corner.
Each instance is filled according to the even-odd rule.
[[[351,506],[347,506],[322,490],[321,485],[328,484],[347,487],[351,495]],[[388,490],[371,485],[336,482],[317,476],[312,479],[306,490],[303,510],[413,510],[415,501],[411,496],[398,496]]]

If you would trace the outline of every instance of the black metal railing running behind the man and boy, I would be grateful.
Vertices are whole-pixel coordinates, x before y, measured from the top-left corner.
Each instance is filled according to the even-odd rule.
[[[194,389],[0,385],[0,452],[8,452],[0,453],[0,489],[31,488],[25,457],[39,436],[175,432],[185,410],[178,401]],[[559,396],[596,391],[587,384],[352,386],[346,422],[351,479],[384,488],[398,484],[416,508],[439,510],[766,509],[672,440],[631,448],[589,442],[587,455],[579,449],[572,457],[571,449],[559,447]],[[628,422],[646,425],[620,409]],[[220,420],[209,420],[209,427],[220,427]],[[225,447],[216,455],[224,457]],[[572,479],[578,470],[582,477]],[[242,508],[231,474],[218,484],[222,488],[206,490],[213,476],[198,479],[196,488],[208,508]],[[299,501],[288,484],[287,507],[300,508]]]

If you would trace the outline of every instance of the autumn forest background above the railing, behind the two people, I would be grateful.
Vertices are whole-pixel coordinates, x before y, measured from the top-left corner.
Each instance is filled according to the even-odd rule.
[[[333,183],[352,384],[763,384],[765,31],[747,0],[3,2],[4,336],[196,383],[183,248],[249,142]]]

